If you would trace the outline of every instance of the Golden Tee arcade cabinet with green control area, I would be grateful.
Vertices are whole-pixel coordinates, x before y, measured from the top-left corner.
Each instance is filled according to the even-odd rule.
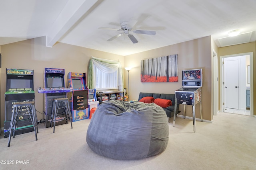
[[[6,68],[4,138],[9,137],[13,104],[35,99],[33,73],[34,70]],[[21,112],[25,113],[27,109],[23,107]],[[16,126],[15,135],[34,131],[29,115],[20,116]]]

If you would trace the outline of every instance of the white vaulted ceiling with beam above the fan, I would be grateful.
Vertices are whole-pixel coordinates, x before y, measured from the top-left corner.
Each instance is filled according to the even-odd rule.
[[[118,30],[124,21],[138,43]],[[240,35],[228,37],[234,29]],[[47,47],[62,42],[126,56],[209,35],[218,47],[248,43],[255,32],[256,0],[0,0],[0,45],[45,36]]]

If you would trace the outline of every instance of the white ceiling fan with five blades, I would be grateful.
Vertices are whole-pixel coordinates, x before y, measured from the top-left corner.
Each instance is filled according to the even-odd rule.
[[[138,33],[138,34],[147,34],[147,35],[156,35],[156,31],[148,31],[148,30],[134,30],[132,31],[132,27],[128,26],[128,22],[122,22],[121,23],[121,29],[116,28],[108,28],[108,27],[99,27],[99,29],[110,29],[114,31],[121,31],[121,33],[115,35],[114,37],[108,39],[108,41],[112,41],[113,39],[116,39],[117,37],[120,37],[121,35],[127,34],[132,43],[138,43],[138,40],[130,33]]]

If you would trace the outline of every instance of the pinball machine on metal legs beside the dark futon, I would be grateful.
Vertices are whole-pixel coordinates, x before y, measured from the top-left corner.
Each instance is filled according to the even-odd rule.
[[[183,112],[184,118],[186,117],[186,105],[192,105],[193,130],[194,132],[196,132],[196,113],[195,113],[196,104],[200,104],[201,121],[203,121],[201,88],[202,88],[202,69],[182,70],[182,88],[175,91],[173,127],[175,126],[177,104],[184,105],[184,112]]]

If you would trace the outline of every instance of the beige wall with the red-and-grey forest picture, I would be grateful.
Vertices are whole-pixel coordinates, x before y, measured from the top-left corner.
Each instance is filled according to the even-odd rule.
[[[166,55],[178,54],[178,82],[140,82],[140,62],[143,59],[162,57]],[[211,37],[204,37],[192,41],[186,41],[175,45],[153,49],[134,55],[124,57],[124,66],[133,67],[129,72],[130,100],[138,100],[140,92],[174,94],[175,90],[182,87],[182,70],[202,68],[202,112],[203,119],[212,120],[212,49]],[[124,74],[127,78],[127,71]],[[128,87],[128,83],[124,87]],[[180,106],[183,112],[183,105]],[[187,107],[186,115],[192,117],[192,106]],[[196,117],[200,118],[200,107],[196,105]]]

